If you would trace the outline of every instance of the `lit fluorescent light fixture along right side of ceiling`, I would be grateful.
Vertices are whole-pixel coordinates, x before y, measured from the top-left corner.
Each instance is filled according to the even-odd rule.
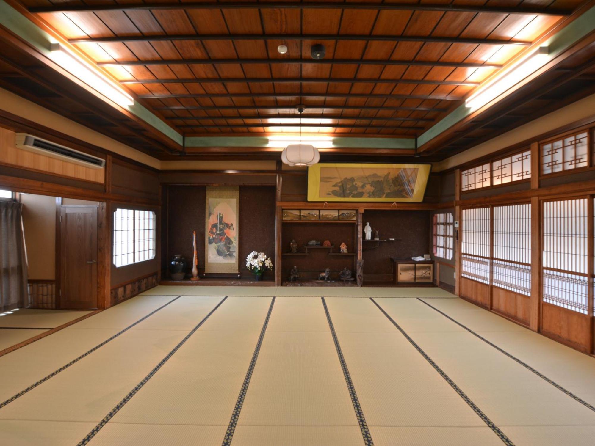
[[[480,87],[480,90],[465,101],[465,105],[473,110],[486,105],[493,99],[496,99],[506,90],[518,84],[525,77],[541,68],[547,61],[549,49],[547,46],[540,46],[532,52],[527,58],[518,62],[515,66],[503,73],[502,76],[487,84],[486,87]]]

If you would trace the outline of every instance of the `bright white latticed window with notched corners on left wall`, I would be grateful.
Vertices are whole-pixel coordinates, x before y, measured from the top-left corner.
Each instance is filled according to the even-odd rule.
[[[116,209],[114,265],[125,266],[155,257],[156,216],[152,211]]]

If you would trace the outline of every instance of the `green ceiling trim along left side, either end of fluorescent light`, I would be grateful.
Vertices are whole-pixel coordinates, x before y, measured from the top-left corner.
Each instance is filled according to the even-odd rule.
[[[21,39],[29,42],[30,45],[37,49],[41,54],[51,59],[49,45],[50,43],[55,42],[54,37],[43,31],[39,26],[12,8],[4,0],[0,0],[0,25],[17,34]],[[136,101],[134,102],[134,105],[127,107],[127,109],[132,114],[181,145],[183,140],[181,134],[165,124],[164,121],[156,117],[148,109]]]

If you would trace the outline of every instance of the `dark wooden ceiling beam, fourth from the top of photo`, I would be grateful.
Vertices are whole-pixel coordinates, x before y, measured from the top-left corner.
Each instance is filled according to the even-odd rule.
[[[183,78],[183,79],[135,79],[121,80],[121,84],[212,84],[224,82],[253,82],[253,83],[377,83],[377,84],[423,84],[423,85],[462,85],[475,87],[479,82],[456,80],[425,80],[425,79],[375,79],[375,78],[329,78],[329,77],[223,77],[223,78]]]

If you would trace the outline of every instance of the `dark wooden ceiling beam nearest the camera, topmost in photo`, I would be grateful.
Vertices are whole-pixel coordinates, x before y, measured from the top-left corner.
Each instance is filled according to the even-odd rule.
[[[410,3],[334,3],[334,2],[186,2],[133,3],[105,5],[67,5],[30,7],[30,12],[130,11],[130,10],[223,10],[223,9],[334,9],[384,11],[493,12],[495,14],[570,15],[571,10],[534,7],[496,7],[490,5],[410,4]]]

